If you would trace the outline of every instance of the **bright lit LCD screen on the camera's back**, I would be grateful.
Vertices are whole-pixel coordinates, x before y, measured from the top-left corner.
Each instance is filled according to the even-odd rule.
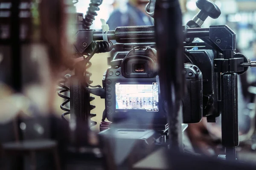
[[[116,109],[158,111],[158,83],[116,83]]]

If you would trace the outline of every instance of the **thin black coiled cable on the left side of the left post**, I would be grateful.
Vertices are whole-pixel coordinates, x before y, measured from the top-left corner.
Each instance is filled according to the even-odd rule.
[[[61,110],[66,111],[65,113],[63,113],[63,114],[61,115],[61,119],[66,120],[66,119],[64,118],[64,116],[70,114],[70,109],[64,108],[64,105],[66,105],[68,102],[70,102],[70,97],[64,96],[62,93],[67,92],[67,91],[70,91],[70,88],[68,88],[67,86],[63,85],[63,83],[65,84],[65,83],[68,81],[67,77],[62,77],[62,78],[63,78],[64,80],[61,80],[61,81],[58,82],[58,86],[60,86],[60,87],[62,88],[60,91],[58,91],[58,96],[60,96],[60,97],[63,98],[63,99],[66,99],[66,100],[61,104]]]

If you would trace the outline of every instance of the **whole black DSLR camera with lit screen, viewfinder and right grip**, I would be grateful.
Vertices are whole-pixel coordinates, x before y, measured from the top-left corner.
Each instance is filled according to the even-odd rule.
[[[124,51],[114,49],[111,67],[103,78],[107,119],[121,127],[168,127],[167,104],[161,98],[157,74],[157,51],[150,46],[134,47],[122,59]],[[192,63],[184,64],[184,68],[187,94],[183,99],[183,123],[198,123],[203,116],[203,75]]]

